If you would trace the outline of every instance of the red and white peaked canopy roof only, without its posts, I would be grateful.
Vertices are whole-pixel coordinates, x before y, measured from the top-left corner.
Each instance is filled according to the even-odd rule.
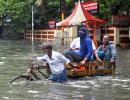
[[[56,23],[56,26],[71,26],[71,25],[80,25],[82,22],[85,21],[96,21],[100,24],[104,24],[106,21],[101,20],[99,18],[96,18],[95,16],[92,16],[90,13],[88,13],[82,6],[82,3],[80,0],[78,1],[78,4],[75,5],[74,10],[70,14],[69,17],[64,19],[61,22]]]

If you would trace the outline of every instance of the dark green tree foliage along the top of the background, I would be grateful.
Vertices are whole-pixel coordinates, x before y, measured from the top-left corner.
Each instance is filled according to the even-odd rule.
[[[65,17],[74,8],[78,0],[65,0]],[[89,1],[89,0],[83,0]],[[111,15],[129,15],[129,0],[93,0],[99,1],[99,13],[96,15],[109,20]],[[61,20],[60,0],[0,0],[0,16],[2,20],[7,17],[12,19],[16,28],[25,28],[25,24],[31,24],[31,6],[34,4],[35,28],[47,27],[48,20]]]

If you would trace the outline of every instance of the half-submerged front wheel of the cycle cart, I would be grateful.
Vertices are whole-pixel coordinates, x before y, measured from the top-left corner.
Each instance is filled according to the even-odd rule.
[[[30,81],[33,81],[33,79],[29,79],[26,75],[20,75],[20,76],[16,76],[15,78],[13,78],[11,81],[10,81],[10,84],[12,83],[20,83],[20,82],[25,82],[27,80],[30,80]]]

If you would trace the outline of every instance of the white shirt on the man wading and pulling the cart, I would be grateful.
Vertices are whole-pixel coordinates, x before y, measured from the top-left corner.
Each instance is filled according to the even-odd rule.
[[[37,60],[46,60],[49,64],[52,74],[60,74],[65,66],[65,63],[69,63],[70,60],[63,56],[61,53],[52,51],[52,58],[50,59],[47,54],[43,57],[37,57]]]

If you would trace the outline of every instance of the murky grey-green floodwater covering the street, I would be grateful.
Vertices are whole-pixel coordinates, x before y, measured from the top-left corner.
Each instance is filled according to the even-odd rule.
[[[37,44],[35,44],[37,45]],[[35,47],[35,46],[34,46]],[[117,48],[115,75],[9,85],[27,68],[27,58],[41,55],[28,41],[0,40],[0,100],[130,100],[130,49]]]

